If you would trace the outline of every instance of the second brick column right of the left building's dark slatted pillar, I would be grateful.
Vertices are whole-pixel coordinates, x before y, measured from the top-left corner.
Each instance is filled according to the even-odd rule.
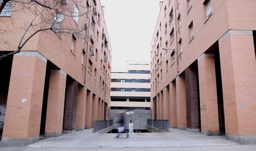
[[[85,128],[92,128],[92,100],[93,93],[87,91]]]

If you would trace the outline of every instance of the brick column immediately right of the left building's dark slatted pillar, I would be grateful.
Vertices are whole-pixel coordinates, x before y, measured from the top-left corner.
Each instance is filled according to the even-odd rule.
[[[87,89],[80,87],[77,99],[77,124],[76,129],[81,131],[85,129],[85,113],[86,113]]]

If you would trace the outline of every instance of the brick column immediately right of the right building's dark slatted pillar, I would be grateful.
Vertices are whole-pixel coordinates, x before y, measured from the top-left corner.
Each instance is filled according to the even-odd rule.
[[[218,135],[220,126],[214,54],[202,54],[198,58],[198,78],[202,133]]]

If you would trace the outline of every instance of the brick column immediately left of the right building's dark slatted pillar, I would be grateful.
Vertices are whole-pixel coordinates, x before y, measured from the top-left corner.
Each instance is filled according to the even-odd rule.
[[[177,128],[187,128],[186,113],[186,84],[184,76],[176,78],[176,99],[177,99]]]

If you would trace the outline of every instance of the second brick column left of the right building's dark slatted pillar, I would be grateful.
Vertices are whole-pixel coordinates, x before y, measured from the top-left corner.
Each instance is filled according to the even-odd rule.
[[[169,126],[177,128],[176,83],[169,84]]]

